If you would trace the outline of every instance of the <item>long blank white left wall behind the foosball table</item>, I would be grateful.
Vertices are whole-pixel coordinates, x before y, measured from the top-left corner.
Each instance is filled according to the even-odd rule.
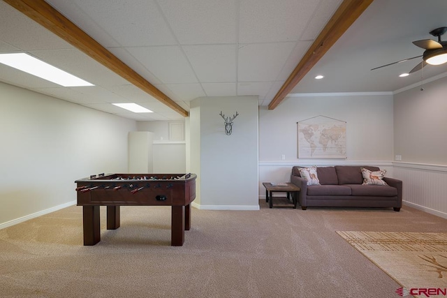
[[[0,227],[73,204],[75,179],[127,172],[135,121],[0,83]]]

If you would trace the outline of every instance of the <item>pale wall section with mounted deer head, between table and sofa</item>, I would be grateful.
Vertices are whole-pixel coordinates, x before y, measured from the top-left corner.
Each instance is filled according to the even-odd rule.
[[[239,113],[231,135],[221,111],[226,117]],[[200,209],[258,209],[258,98],[197,98],[190,118],[191,156],[200,147]]]

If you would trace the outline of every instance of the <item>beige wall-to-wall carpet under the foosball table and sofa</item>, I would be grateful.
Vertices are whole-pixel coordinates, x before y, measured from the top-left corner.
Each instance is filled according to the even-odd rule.
[[[122,207],[117,230],[105,230],[101,207],[95,246],[82,245],[82,207],[4,228],[0,297],[399,298],[401,285],[336,231],[447,233],[446,219],[409,207],[260,205],[193,209],[178,247],[169,207]]]

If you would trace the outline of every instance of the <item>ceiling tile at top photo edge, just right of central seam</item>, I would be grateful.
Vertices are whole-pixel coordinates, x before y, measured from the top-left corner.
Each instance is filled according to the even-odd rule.
[[[296,41],[317,6],[315,0],[281,0],[281,5],[271,0],[241,1],[239,42]]]

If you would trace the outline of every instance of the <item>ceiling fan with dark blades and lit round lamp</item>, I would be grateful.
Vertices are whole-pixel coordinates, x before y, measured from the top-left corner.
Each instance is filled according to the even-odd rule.
[[[416,59],[416,58],[420,58],[420,57],[423,57],[423,61],[418,63],[418,65],[416,65],[409,73],[414,73],[415,71],[422,69],[427,64],[440,65],[440,64],[446,63],[447,62],[447,40],[446,41],[441,40],[441,36],[446,32],[447,32],[447,27],[440,27],[440,28],[430,31],[430,34],[432,34],[432,36],[437,36],[438,41],[434,41],[432,39],[423,39],[423,40],[413,41],[413,45],[416,45],[418,47],[422,47],[423,49],[425,49],[425,51],[422,55],[403,59],[403,60],[396,61],[396,62],[393,62],[390,64],[379,66],[376,68],[372,68],[372,70],[377,69],[377,68],[382,68],[385,66],[390,66],[393,64],[398,64],[398,63],[401,63],[404,61],[409,61],[411,59]]]

